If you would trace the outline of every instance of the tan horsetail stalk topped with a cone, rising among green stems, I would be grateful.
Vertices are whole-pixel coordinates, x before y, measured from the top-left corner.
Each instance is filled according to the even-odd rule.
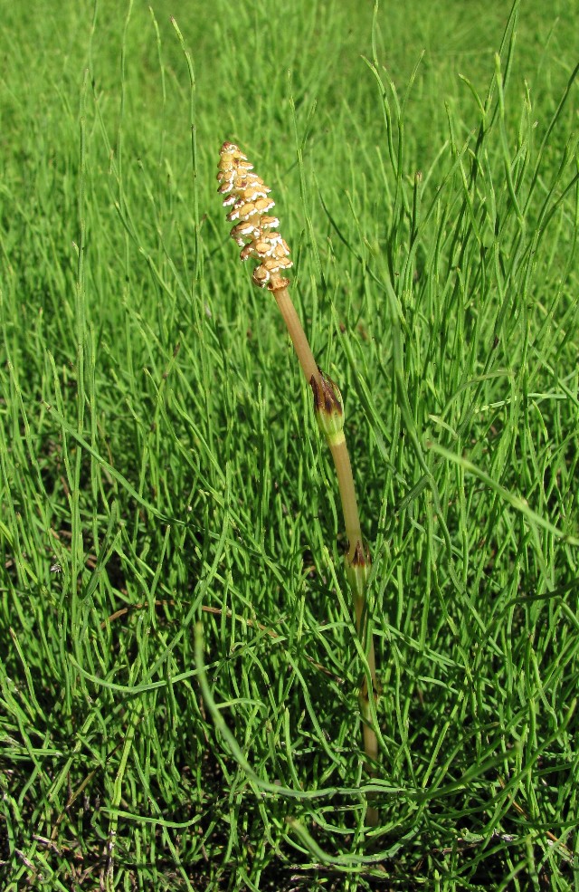
[[[356,632],[360,638],[369,667],[372,697],[377,698],[375,654],[372,635],[368,630],[368,611],[365,598],[366,580],[370,570],[370,555],[362,539],[360,518],[356,502],[356,490],[352,465],[344,434],[344,403],[337,385],[318,368],[308,339],[299,321],[298,313],[288,291],[289,280],[285,273],[292,265],[289,247],[275,229],[280,221],[270,216],[275,202],[270,198],[271,189],[253,172],[242,151],[233,142],[224,142],[220,151],[218,191],[224,196],[223,206],[230,207],[227,215],[233,223],[232,238],[242,248],[241,259],[253,258],[258,262],[252,273],[252,282],[260,288],[267,287],[275,297],[289,337],[298,355],[299,364],[314,396],[314,409],[318,426],[326,437],[337,473],[337,483],[346,526],[347,551],[345,555],[346,579],[354,599]],[[372,726],[369,686],[366,676],[360,687],[360,711],[363,719],[364,749],[367,769],[378,755],[376,734]],[[366,810],[366,823],[375,825],[378,814],[375,808]]]

